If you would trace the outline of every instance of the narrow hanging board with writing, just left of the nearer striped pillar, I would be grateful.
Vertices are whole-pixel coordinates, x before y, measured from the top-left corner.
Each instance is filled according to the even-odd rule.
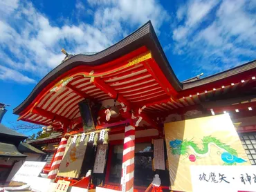
[[[104,173],[104,167],[106,162],[107,145],[100,144],[97,149],[93,173]]]

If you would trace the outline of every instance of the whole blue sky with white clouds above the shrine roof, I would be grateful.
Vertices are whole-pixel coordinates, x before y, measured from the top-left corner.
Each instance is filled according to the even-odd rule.
[[[70,53],[97,52],[152,20],[176,76],[218,73],[256,59],[256,1],[2,0],[0,102],[12,109]]]

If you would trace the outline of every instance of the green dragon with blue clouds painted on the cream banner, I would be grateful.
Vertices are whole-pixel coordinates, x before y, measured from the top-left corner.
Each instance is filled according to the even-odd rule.
[[[170,141],[172,155],[186,155],[191,162],[195,162],[196,157],[208,157],[210,155],[211,146],[219,148],[219,154],[221,154],[221,160],[223,160],[224,165],[235,165],[237,163],[246,162],[246,160],[237,157],[237,151],[234,148],[224,144],[215,137],[203,137],[202,144],[203,148],[199,148],[193,140]],[[189,151],[192,151],[194,154],[189,154]]]

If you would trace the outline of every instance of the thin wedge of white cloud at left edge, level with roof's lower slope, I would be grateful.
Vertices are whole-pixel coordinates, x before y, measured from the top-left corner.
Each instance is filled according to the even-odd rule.
[[[30,79],[25,75],[17,72],[16,70],[12,70],[10,68],[6,68],[4,66],[0,66],[0,79],[1,80],[12,80],[16,81],[20,84],[35,84],[34,79]]]

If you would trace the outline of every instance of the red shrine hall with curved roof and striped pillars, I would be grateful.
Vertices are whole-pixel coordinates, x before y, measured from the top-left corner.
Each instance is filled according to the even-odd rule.
[[[256,61],[181,82],[150,21],[101,52],[62,52],[62,63],[14,109],[52,132],[29,143],[48,154],[44,173],[54,182],[145,191],[158,175],[161,190],[176,190],[164,125],[224,113],[256,164]]]

